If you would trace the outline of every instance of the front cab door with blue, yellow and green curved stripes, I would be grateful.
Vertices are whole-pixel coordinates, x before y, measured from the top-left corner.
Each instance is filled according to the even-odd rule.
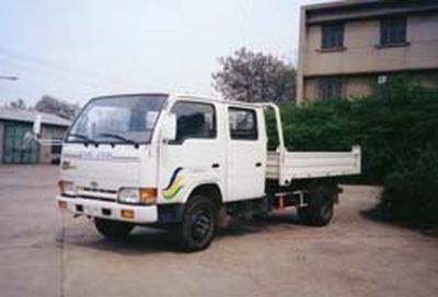
[[[219,108],[223,106],[189,99],[171,107],[176,140],[160,145],[160,203],[182,202],[198,185],[216,183],[222,190],[226,147]]]

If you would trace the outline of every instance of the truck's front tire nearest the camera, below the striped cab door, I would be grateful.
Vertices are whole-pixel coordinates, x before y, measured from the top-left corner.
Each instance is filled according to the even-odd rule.
[[[217,207],[207,197],[189,199],[176,227],[178,245],[183,251],[200,251],[210,246],[217,228]]]

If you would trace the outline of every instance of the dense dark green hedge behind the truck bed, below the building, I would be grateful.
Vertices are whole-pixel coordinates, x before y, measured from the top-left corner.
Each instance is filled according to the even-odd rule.
[[[289,150],[343,151],[360,144],[362,174],[344,181],[383,185],[382,203],[391,204],[393,212],[416,203],[426,212],[438,211],[437,203],[431,202],[438,194],[436,183],[430,183],[430,178],[411,182],[413,175],[434,177],[438,170],[438,163],[425,166],[438,152],[438,88],[412,85],[406,78],[397,78],[376,86],[364,98],[333,98],[301,107],[288,104],[280,109]],[[268,115],[270,147],[276,145],[274,124]],[[415,194],[413,189],[428,190]],[[403,217],[406,215],[415,218],[413,213]]]

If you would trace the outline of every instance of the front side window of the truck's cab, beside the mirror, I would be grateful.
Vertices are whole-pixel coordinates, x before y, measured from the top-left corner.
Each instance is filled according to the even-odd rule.
[[[210,104],[178,102],[172,112],[176,115],[176,141],[216,138],[216,112]]]

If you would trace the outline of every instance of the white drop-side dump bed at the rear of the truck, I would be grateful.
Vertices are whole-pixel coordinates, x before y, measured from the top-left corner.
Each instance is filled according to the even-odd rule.
[[[350,152],[268,152],[266,178],[281,186],[293,179],[360,174],[360,146]]]

